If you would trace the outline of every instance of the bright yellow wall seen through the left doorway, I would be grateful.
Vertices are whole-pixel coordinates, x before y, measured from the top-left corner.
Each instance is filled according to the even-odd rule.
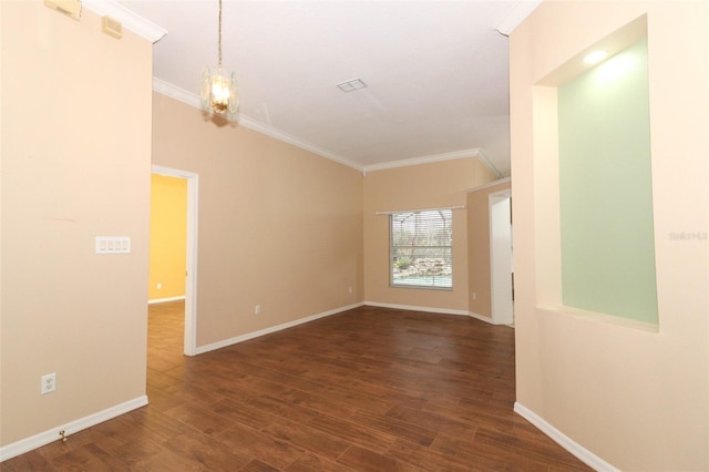
[[[148,300],[185,296],[186,256],[187,181],[153,174]]]

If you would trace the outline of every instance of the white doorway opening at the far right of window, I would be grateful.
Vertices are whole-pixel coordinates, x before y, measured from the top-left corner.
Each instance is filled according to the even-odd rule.
[[[514,324],[512,199],[510,189],[490,194],[490,275],[492,320]]]

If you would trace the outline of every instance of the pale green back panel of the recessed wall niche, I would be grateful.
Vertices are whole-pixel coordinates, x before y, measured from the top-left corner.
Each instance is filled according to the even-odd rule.
[[[647,40],[558,88],[565,306],[657,324]]]

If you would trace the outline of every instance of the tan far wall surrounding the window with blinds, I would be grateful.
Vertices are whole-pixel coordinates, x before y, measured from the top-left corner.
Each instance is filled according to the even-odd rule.
[[[476,157],[369,172],[364,177],[368,302],[467,312],[467,215],[453,211],[453,290],[389,286],[389,218],[377,212],[465,206],[465,189],[494,177]]]

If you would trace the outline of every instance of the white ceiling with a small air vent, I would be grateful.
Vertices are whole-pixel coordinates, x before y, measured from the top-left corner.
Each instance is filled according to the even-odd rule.
[[[168,31],[154,44],[155,90],[197,105],[218,63],[218,1],[117,3]],[[237,126],[362,171],[477,154],[507,176],[503,33],[537,3],[224,0]],[[367,88],[338,89],[357,78]]]

